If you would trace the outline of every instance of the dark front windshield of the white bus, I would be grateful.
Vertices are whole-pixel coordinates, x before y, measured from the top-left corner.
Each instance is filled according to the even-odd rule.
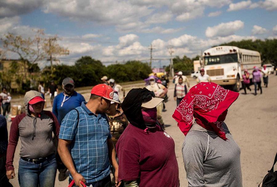
[[[238,62],[237,53],[205,57],[205,65],[225,64],[225,63],[232,63],[232,62]]]

